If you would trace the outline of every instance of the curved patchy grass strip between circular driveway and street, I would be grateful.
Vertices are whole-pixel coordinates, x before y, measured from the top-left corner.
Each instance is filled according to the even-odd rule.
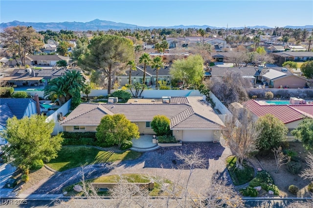
[[[156,177],[153,176],[149,176],[146,174],[122,174],[123,179],[125,179],[127,182],[129,183],[149,183],[151,179],[153,179],[154,181],[157,181]],[[85,182],[88,183],[118,183],[118,181],[120,180],[120,176],[118,175],[109,175],[109,176],[101,176],[99,178],[95,178],[95,179],[90,179],[90,180],[86,180]],[[167,179],[163,179],[164,183],[168,183],[171,184],[172,182],[167,180]],[[82,182],[76,183],[79,185],[82,185]],[[67,191],[67,196],[83,196],[83,192],[76,192],[73,190],[73,187],[76,184],[72,184],[70,186],[67,186],[65,188],[62,189],[63,193],[65,191]],[[102,196],[110,196],[110,193],[108,191],[98,191],[99,195]],[[161,185],[155,182],[155,188],[150,190],[149,195],[150,196],[160,196],[162,194],[161,191]]]

